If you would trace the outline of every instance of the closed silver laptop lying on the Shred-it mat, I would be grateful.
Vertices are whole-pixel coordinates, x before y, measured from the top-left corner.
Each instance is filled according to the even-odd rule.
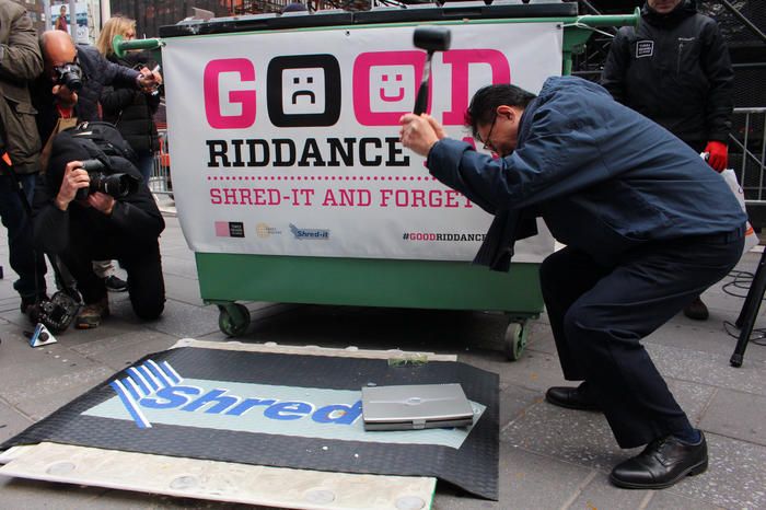
[[[460,384],[362,387],[364,430],[466,427],[474,409]]]

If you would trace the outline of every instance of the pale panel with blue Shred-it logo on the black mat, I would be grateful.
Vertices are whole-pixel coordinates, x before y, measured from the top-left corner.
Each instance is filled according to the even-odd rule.
[[[460,448],[471,428],[365,432],[361,391],[184,378],[167,361],[148,360],[109,382],[116,393],[83,415],[155,426]],[[221,373],[225,379],[225,373]],[[475,422],[485,406],[474,403]]]

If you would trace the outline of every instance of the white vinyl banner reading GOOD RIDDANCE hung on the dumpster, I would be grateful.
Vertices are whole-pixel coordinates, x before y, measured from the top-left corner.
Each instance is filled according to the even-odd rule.
[[[449,28],[450,49],[433,55],[428,111],[453,138],[473,143],[464,112],[480,86],[536,93],[560,74],[560,24]],[[173,189],[192,250],[471,260],[491,217],[398,140],[426,61],[414,30],[165,39]],[[541,231],[517,243],[514,260],[553,251]]]

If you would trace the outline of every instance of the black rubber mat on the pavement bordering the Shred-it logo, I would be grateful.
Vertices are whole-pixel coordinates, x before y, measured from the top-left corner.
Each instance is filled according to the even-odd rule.
[[[258,430],[219,430],[184,425],[152,424],[149,428],[140,428],[136,421],[125,417],[113,419],[83,415],[106,401],[115,401],[117,392],[111,383],[130,376],[136,379],[136,369],[146,370],[147,362],[160,369],[171,366],[184,379],[274,385],[292,387],[293,391],[359,391],[370,382],[376,385],[460,383],[466,396],[486,406],[486,409],[459,449],[439,444],[317,439],[283,436],[272,431],[263,433]],[[281,417],[297,413],[295,409],[294,406],[282,409]],[[202,409],[197,410],[200,415],[204,413]],[[132,366],[132,371],[126,369],[78,397],[5,441],[0,450],[18,444],[51,441],[244,464],[341,473],[434,476],[473,495],[497,500],[498,410],[497,374],[459,362],[431,361],[420,366],[390,367],[386,360],[188,347],[143,358]]]

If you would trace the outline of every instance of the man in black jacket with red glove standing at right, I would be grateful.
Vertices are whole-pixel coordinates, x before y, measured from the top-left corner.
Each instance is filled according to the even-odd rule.
[[[727,167],[734,73],[717,23],[692,0],[647,0],[638,28],[623,27],[612,42],[602,85],[615,100],[646,115],[716,171]],[[696,320],[708,310],[697,298],[684,309]]]

